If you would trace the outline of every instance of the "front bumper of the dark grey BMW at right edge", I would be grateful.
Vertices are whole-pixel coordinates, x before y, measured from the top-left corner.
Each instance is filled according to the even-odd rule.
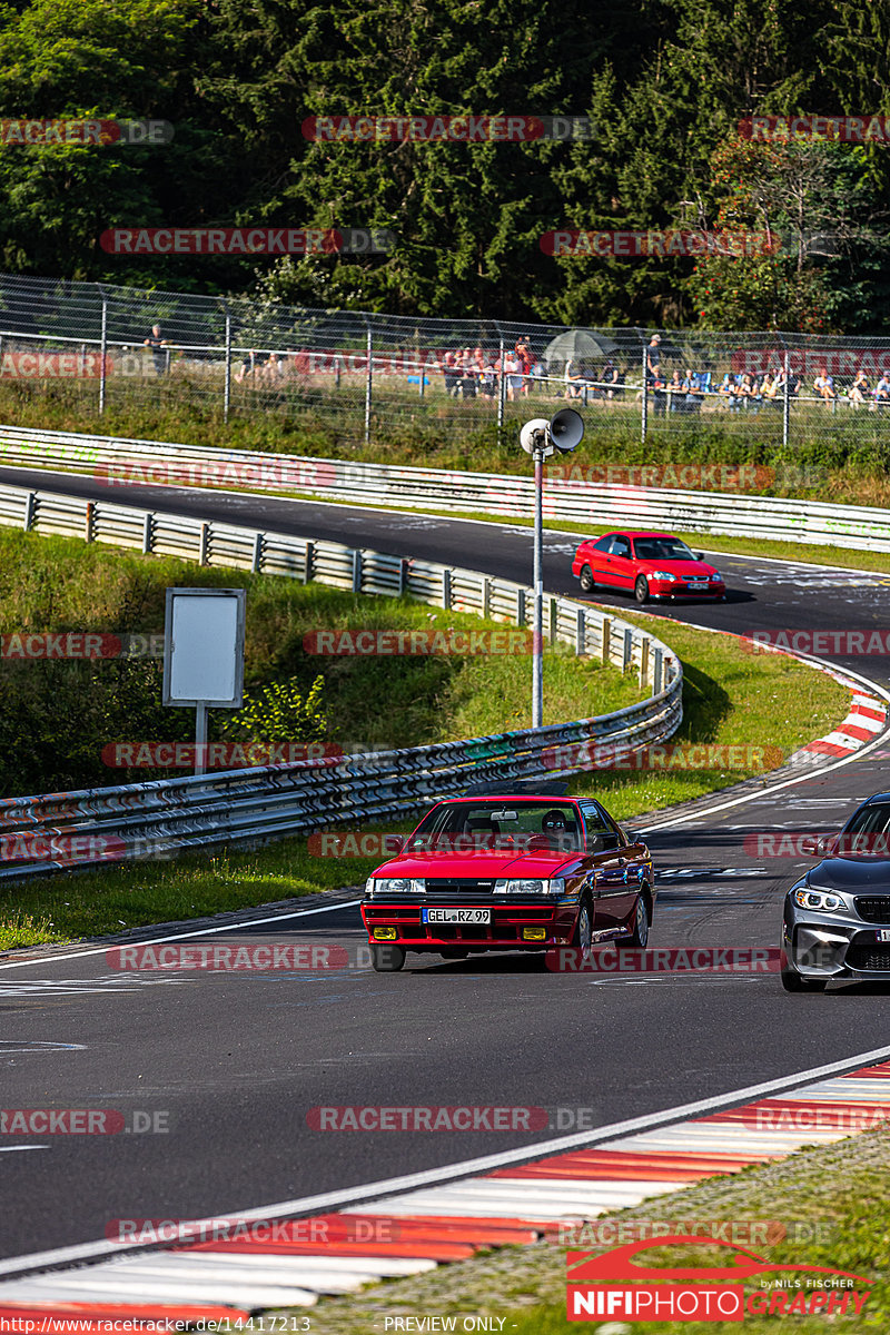
[[[861,918],[786,906],[782,948],[805,979],[890,983],[890,941]]]

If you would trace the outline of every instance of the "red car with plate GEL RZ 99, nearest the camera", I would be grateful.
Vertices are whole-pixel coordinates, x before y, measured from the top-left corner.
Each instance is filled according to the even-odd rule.
[[[394,972],[407,951],[643,947],[654,902],[648,849],[599,802],[506,784],[438,802],[368,877],[362,917],[374,968]]]

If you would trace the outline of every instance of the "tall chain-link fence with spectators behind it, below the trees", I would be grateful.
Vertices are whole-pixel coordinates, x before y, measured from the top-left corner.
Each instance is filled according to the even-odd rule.
[[[600,439],[890,439],[890,339],[566,328],[0,275],[0,380],[95,406],[278,414],[344,443],[498,443],[570,402]]]

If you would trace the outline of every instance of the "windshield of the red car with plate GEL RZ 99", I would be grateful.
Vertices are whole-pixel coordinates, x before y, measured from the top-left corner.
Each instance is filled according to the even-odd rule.
[[[575,808],[559,801],[495,798],[443,802],[418,825],[404,852],[578,852]]]

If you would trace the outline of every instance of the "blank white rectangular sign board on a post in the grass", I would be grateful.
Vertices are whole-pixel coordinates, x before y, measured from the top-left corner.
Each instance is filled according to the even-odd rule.
[[[240,709],[244,589],[168,589],[164,704]]]

